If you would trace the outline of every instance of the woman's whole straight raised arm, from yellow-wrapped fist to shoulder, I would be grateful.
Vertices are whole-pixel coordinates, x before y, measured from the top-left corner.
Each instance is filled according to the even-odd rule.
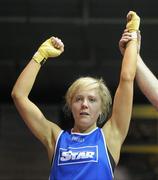
[[[119,160],[122,143],[127,136],[133,106],[133,84],[136,74],[138,39],[140,19],[134,12],[127,15],[127,27],[133,31],[134,39],[127,43],[120,73],[120,81],[113,102],[112,116],[103,127],[108,148],[115,162]],[[131,29],[134,28],[134,29]]]

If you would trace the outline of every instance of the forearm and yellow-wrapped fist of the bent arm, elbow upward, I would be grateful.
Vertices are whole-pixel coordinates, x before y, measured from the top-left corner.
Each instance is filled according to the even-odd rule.
[[[12,97],[28,97],[41,64],[46,62],[50,57],[54,58],[59,56],[63,51],[64,44],[57,37],[51,37],[44,41],[17,79],[12,91]]]

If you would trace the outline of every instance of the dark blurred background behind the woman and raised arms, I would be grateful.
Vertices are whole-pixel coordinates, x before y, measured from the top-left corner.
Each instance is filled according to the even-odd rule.
[[[46,151],[24,125],[10,96],[39,45],[51,36],[65,44],[65,52],[41,68],[30,95],[58,123],[65,92],[76,78],[103,77],[114,95],[122,59],[118,42],[130,10],[141,17],[141,56],[158,77],[157,1],[0,1],[0,180],[48,179]],[[149,102],[135,84],[134,105],[139,104]],[[157,145],[157,117],[133,118],[125,144]],[[116,180],[156,180],[158,152],[123,152],[116,173]]]

